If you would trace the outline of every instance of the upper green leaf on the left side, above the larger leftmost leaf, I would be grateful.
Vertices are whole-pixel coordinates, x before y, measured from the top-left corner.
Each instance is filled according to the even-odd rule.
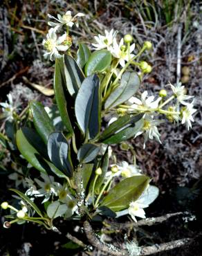
[[[44,143],[47,144],[48,136],[53,131],[55,131],[55,127],[53,126],[52,121],[50,120],[48,113],[44,109],[42,103],[37,101],[30,102],[30,109],[33,113],[33,121],[35,128],[38,134],[44,140]]]

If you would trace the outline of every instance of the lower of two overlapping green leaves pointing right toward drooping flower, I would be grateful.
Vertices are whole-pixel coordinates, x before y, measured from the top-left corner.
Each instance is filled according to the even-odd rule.
[[[106,140],[102,140],[102,143],[117,144],[124,140],[128,140],[129,138],[134,137],[136,133],[140,131],[140,129],[142,129],[143,123],[143,119],[140,119],[138,122],[136,122],[135,125],[122,129],[121,131],[118,131],[116,134],[112,135]]]

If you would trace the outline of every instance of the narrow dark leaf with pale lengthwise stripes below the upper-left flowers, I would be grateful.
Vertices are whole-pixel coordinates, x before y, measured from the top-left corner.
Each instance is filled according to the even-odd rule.
[[[77,62],[68,55],[64,55],[64,75],[66,88],[75,97],[85,77]]]

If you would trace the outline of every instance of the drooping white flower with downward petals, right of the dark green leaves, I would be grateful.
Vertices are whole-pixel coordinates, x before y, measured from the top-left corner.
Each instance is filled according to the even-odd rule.
[[[135,136],[136,138],[140,134],[144,135],[144,138],[145,138],[145,142],[143,145],[144,149],[145,149],[145,143],[147,142],[148,139],[153,140],[154,138],[156,138],[158,143],[161,144],[160,134],[158,132],[158,128],[156,127],[156,125],[159,125],[161,122],[162,121],[160,120],[154,120],[154,116],[149,116],[149,115],[144,116],[143,128],[140,131],[138,131]]]

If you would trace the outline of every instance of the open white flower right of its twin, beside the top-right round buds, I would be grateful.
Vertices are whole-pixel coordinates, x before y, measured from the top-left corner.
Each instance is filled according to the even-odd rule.
[[[109,51],[113,55],[113,57],[116,57],[119,60],[119,63],[122,67],[125,66],[125,62],[128,62],[129,59],[134,57],[134,54],[131,54],[134,51],[135,44],[131,44],[129,48],[129,53],[127,47],[124,45],[124,39],[122,38],[120,40],[120,43],[118,44],[116,42],[116,39],[113,40],[113,46],[109,48]]]

